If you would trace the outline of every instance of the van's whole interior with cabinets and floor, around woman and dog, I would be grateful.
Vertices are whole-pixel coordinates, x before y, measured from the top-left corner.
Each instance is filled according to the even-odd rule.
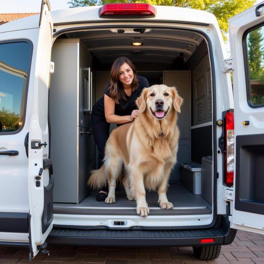
[[[65,30],[53,43],[55,71],[50,77],[49,116],[54,224],[67,223],[74,215],[72,224],[81,226],[209,225],[215,210],[216,193],[212,190],[216,178],[208,42],[192,25],[122,24]],[[120,56],[128,57],[150,86],[175,86],[184,99],[178,115],[177,164],[167,191],[174,208],[160,209],[157,192],[147,192],[150,215],[146,219],[139,219],[136,202],[126,199],[122,187],[116,191],[116,203],[105,204],[96,201],[98,190],[86,184],[90,170],[98,168],[90,122],[92,106],[103,96],[111,65]],[[115,127],[111,125],[111,130]]]

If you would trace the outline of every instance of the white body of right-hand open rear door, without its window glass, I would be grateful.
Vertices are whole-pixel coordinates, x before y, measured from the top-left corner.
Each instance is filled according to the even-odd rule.
[[[264,233],[263,211],[263,138],[264,107],[251,106],[247,96],[250,80],[247,80],[248,51],[246,34],[248,31],[263,26],[263,11],[256,16],[255,10],[260,3],[229,19],[229,39],[231,56],[233,57],[234,87],[234,132],[235,132],[235,167],[234,193],[231,202],[231,227],[256,233]],[[262,8],[263,10],[263,8]],[[258,25],[258,26],[257,26]],[[250,79],[250,76],[249,76]],[[249,125],[243,125],[249,121]],[[260,154],[259,150],[262,151]],[[245,167],[250,168],[246,171]]]

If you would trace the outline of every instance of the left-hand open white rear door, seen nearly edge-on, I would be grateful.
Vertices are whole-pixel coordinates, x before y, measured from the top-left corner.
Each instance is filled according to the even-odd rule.
[[[49,157],[48,87],[53,22],[48,0],[42,0],[39,34],[35,43],[33,112],[28,139],[28,197],[30,259],[45,251],[53,227],[53,179]]]

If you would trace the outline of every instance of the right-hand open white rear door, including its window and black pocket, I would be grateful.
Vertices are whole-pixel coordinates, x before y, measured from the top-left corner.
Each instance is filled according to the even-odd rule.
[[[229,19],[235,119],[231,227],[264,234],[264,2]]]

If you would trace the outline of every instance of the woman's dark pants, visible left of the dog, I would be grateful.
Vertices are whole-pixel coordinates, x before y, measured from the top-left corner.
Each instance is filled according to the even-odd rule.
[[[95,144],[98,148],[98,168],[101,168],[104,160],[104,148],[107,139],[109,138],[110,123],[106,122],[105,117],[92,113],[91,116],[92,133],[94,136]],[[101,189],[108,192],[108,186]]]

